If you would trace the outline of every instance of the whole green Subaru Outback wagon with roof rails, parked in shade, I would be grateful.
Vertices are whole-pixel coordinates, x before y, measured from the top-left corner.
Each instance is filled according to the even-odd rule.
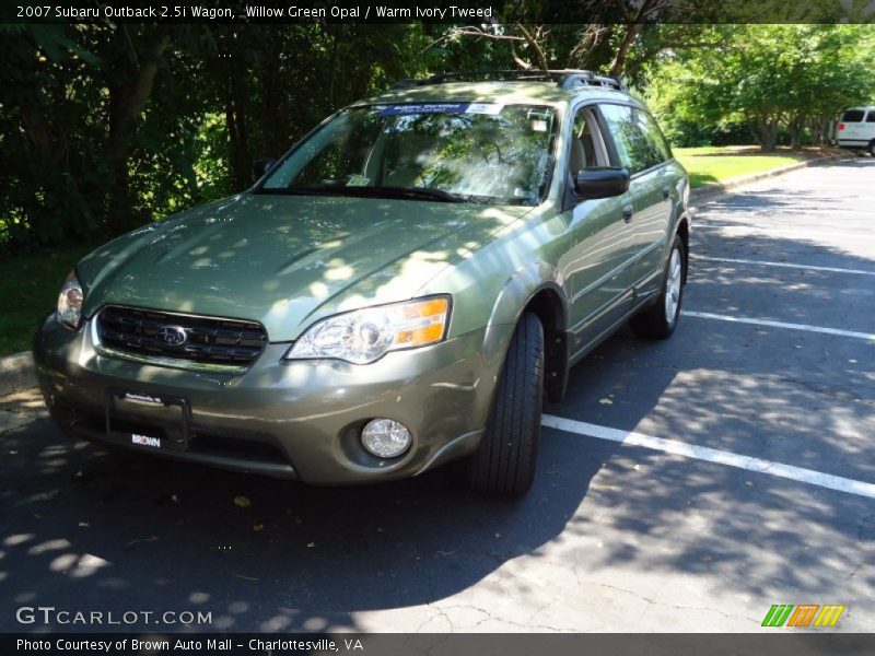
[[[467,458],[518,495],[569,367],[677,325],[687,175],[614,79],[406,81],[267,166],[79,262],[34,348],[67,433],[320,484]]]

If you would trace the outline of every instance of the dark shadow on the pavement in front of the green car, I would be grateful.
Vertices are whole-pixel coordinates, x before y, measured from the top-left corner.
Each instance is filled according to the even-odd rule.
[[[2,437],[0,628],[27,630],[14,610],[42,605],[211,611],[202,630],[357,629],[355,611],[451,596],[559,536],[609,457],[545,441],[535,488],[509,503],[466,492],[453,467],[307,488],[70,444],[38,420]]]

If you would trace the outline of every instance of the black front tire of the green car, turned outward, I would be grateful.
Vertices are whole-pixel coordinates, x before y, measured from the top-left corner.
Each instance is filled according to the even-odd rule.
[[[525,314],[504,359],[489,425],[468,462],[468,487],[520,497],[535,480],[544,399],[544,328]]]

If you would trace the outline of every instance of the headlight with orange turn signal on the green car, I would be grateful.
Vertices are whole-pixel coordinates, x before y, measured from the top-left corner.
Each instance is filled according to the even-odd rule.
[[[357,309],[311,326],[285,359],[337,359],[368,364],[388,351],[441,341],[448,321],[446,296]]]

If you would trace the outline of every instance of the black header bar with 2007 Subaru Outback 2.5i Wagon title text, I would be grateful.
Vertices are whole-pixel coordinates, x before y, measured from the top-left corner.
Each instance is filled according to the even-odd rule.
[[[875,3],[851,0],[10,0],[0,23],[871,23]],[[0,26],[2,30],[2,26]]]

